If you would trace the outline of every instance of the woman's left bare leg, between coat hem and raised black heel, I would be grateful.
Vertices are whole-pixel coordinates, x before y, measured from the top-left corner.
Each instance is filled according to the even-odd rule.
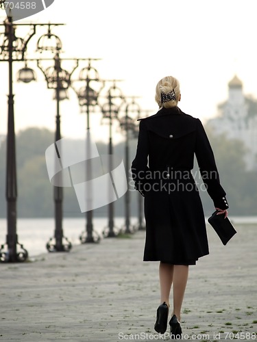
[[[160,302],[166,302],[169,306],[169,294],[171,292],[171,284],[173,280],[173,265],[170,263],[160,262],[159,277],[160,277]]]

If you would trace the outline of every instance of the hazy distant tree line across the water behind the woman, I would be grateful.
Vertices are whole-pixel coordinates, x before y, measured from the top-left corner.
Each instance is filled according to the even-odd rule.
[[[228,140],[225,135],[211,131],[208,137],[215,153],[221,184],[228,194],[230,215],[256,215],[257,171],[247,171],[243,160],[245,146],[240,140]],[[53,143],[54,133],[48,129],[29,128],[16,135],[16,164],[18,177],[17,211],[19,218],[53,217],[53,186],[49,182],[45,162],[45,150]],[[76,140],[73,141],[77,143]],[[136,152],[136,140],[130,140],[130,161]],[[74,145],[75,146],[75,145]],[[108,146],[97,143],[99,154],[108,154]],[[114,146],[114,154],[124,160],[124,143]],[[0,217],[6,217],[5,201],[5,152],[6,142],[0,146]],[[197,168],[193,172],[197,172]],[[199,176],[197,176],[199,180]],[[130,187],[133,190],[133,186]],[[131,192],[131,213],[136,216],[138,192]],[[212,200],[201,191],[206,215],[212,213]],[[115,202],[115,215],[124,215],[124,196]],[[82,217],[74,189],[64,188],[64,216]],[[95,216],[107,216],[108,206],[95,210]]]

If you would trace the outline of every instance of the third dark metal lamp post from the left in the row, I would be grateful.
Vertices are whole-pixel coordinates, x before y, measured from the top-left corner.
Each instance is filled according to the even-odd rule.
[[[86,60],[88,61],[88,66],[80,70],[79,79],[77,80],[84,81],[86,84],[78,90],[76,90],[75,86],[73,86],[73,89],[77,94],[77,98],[79,100],[79,107],[81,108],[81,111],[83,112],[84,109],[86,109],[86,153],[88,159],[90,159],[90,144],[88,143],[88,139],[90,138],[90,109],[97,105],[100,90],[94,90],[92,88],[93,86],[91,85],[91,83],[99,83],[99,74],[97,70],[93,68],[93,66],[91,66],[91,61],[95,61],[98,59],[88,58]],[[86,173],[88,175],[88,179],[91,179],[91,163],[87,163]],[[92,192],[91,194],[86,194],[86,196],[87,198],[92,196]],[[79,240],[82,244],[92,242],[98,243],[100,241],[99,234],[93,230],[93,210],[86,211],[86,231],[82,232],[82,234],[79,236]]]

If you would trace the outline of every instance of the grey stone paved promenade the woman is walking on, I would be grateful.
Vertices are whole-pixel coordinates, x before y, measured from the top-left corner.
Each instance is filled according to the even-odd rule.
[[[236,229],[224,247],[208,226],[210,255],[190,269],[183,341],[254,341],[256,226]],[[0,264],[0,342],[169,341],[169,331],[154,331],[158,263],[142,261],[144,238],[137,232]]]

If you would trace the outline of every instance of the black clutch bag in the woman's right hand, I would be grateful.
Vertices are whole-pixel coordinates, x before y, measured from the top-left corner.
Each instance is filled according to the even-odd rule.
[[[225,246],[228,241],[236,234],[236,230],[228,218],[224,218],[224,215],[217,215],[219,211],[212,213],[208,222],[214,228],[217,235],[221,239],[222,244]]]

